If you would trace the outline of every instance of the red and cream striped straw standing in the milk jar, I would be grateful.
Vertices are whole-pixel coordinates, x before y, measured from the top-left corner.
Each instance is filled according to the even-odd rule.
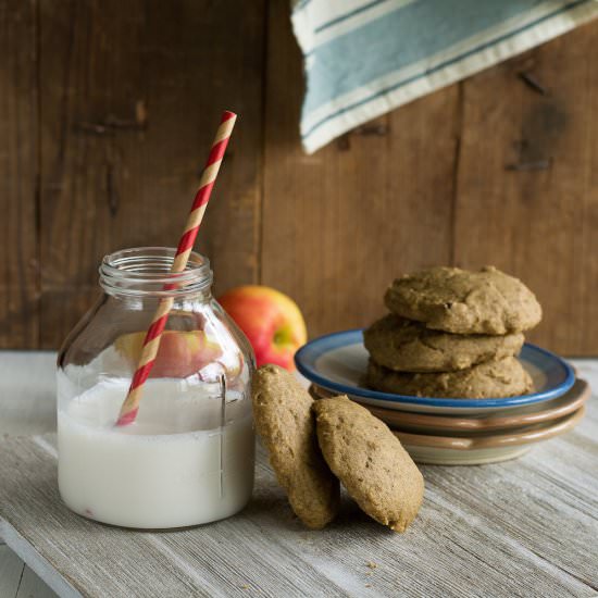
[[[183,231],[180,240],[178,241],[178,247],[176,248],[173,265],[171,267],[171,274],[183,272],[187,266],[187,261],[189,260],[189,256],[194,248],[201,220],[203,219],[205,208],[208,207],[208,201],[210,201],[210,195],[214,187],[214,183],[216,182],[220,165],[222,164],[222,159],[224,157],[224,152],[226,151],[226,146],[228,145],[228,139],[233,133],[233,127],[235,126],[236,120],[237,115],[234,112],[225,111],[222,115],[219,129],[216,130],[216,136],[212,142],[210,155],[208,157],[208,162],[205,163],[205,167],[201,174],[199,189],[194,199],[194,204],[191,207],[189,217],[187,219],[187,224]],[[175,287],[176,284],[171,283],[164,288],[169,290]],[[144,383],[148,379],[153,363],[155,362],[155,356],[158,354],[158,348],[160,347],[160,339],[162,333],[164,332],[173,303],[173,297],[165,297],[158,306],[158,310],[155,311],[153,320],[146,334],[141,357],[139,358],[137,370],[130,382],[127,397],[121,407],[121,413],[119,414],[119,420],[116,421],[117,426],[128,425],[135,421],[135,418],[137,418]]]

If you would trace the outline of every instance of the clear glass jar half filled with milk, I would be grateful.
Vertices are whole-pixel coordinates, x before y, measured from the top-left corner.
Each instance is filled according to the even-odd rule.
[[[211,296],[209,261],[191,253],[183,273],[170,274],[174,253],[142,247],[107,256],[103,294],[59,354],[60,494],[104,523],[197,525],[236,513],[251,496],[253,352]],[[174,304],[139,411],[115,426],[164,297]]]

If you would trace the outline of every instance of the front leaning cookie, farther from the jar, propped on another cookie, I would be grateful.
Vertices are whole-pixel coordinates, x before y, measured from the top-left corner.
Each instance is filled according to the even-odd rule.
[[[424,478],[388,426],[347,397],[313,404],[317,441],[331,470],[360,508],[404,532],[424,496]]]

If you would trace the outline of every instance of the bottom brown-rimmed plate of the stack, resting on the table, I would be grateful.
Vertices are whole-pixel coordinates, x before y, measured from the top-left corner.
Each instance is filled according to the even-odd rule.
[[[470,434],[469,436],[426,436],[396,432],[402,446],[418,463],[435,465],[479,465],[514,459],[534,443],[548,440],[575,427],[585,407],[556,422],[519,428],[510,434]]]

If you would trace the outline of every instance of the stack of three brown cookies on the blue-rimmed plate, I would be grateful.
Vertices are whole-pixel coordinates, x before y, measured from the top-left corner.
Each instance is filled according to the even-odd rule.
[[[397,278],[385,303],[390,313],[364,332],[369,387],[472,399],[532,390],[516,356],[541,308],[518,278],[494,266],[432,267]]]

